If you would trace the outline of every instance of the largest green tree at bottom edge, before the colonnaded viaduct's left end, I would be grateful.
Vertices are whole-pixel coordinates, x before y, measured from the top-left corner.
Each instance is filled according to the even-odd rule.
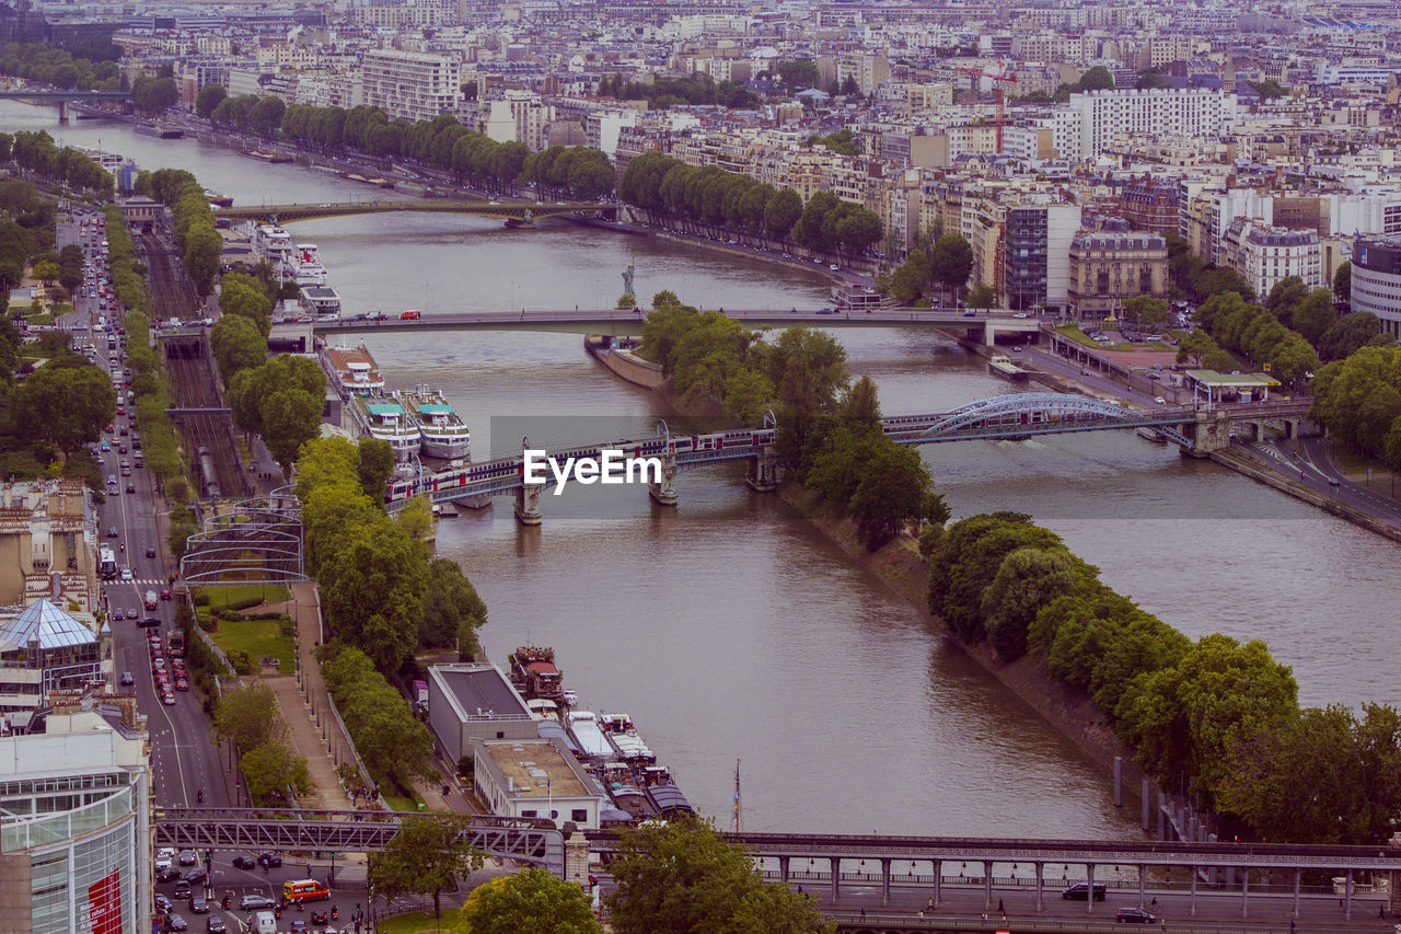
[[[608,914],[618,934],[835,930],[807,898],[764,882],[744,850],[698,818],[623,830],[609,868],[616,888]]]

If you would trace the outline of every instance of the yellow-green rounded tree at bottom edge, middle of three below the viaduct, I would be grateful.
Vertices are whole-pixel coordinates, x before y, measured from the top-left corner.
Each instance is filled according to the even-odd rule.
[[[503,875],[472,889],[461,917],[469,931],[511,934],[597,934],[588,895],[538,867]]]

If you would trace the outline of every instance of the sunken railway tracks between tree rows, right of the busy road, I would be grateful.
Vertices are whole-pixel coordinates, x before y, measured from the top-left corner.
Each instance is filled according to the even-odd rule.
[[[147,268],[151,287],[151,307],[157,320],[191,317],[199,306],[199,296],[185,275],[179,250],[171,231],[140,234],[137,252]],[[214,384],[214,370],[209,358],[209,342],[172,342],[165,348],[165,367],[171,377],[171,391],[177,408],[219,408],[223,400]],[[207,447],[219,478],[219,495],[238,498],[252,495],[242,470],[234,422],[226,414],[195,412],[175,417],[177,428],[185,436],[185,456],[191,460],[191,477],[199,487],[200,498],[209,495],[203,482],[198,453]]]

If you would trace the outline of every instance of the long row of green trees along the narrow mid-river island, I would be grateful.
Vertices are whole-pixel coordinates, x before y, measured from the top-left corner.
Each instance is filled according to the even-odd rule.
[[[1160,787],[1219,815],[1220,833],[1380,843],[1401,812],[1401,712],[1300,708],[1264,642],[1189,639],[1100,581],[1030,516],[948,509],[918,453],[880,436],[869,377],[828,335],[772,342],[723,316],[653,299],[639,352],[686,412],[779,415],[790,502],[925,609],[1000,680],[1096,756],[1128,752]],[[817,505],[822,503],[821,509]],[[918,554],[905,533],[918,536]],[[918,590],[919,588],[913,588]]]

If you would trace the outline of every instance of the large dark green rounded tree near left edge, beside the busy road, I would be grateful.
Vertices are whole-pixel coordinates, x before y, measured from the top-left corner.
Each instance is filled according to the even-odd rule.
[[[46,440],[64,460],[95,442],[116,417],[116,391],[95,366],[43,366],[31,373],[14,400],[14,419],[29,439]]]

